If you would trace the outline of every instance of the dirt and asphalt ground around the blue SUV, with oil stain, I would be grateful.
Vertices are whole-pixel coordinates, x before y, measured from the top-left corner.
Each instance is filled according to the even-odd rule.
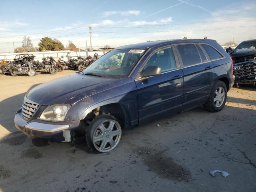
[[[199,107],[123,130],[105,154],[84,143],[34,146],[14,127],[16,110],[30,88],[72,73],[0,75],[0,192],[256,191],[256,87],[232,88],[217,113]],[[230,175],[211,176],[216,169]]]

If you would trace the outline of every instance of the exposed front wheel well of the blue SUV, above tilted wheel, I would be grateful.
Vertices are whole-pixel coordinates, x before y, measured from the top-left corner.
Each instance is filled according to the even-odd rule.
[[[130,126],[130,116],[128,115],[128,112],[126,109],[119,103],[112,103],[107,104],[104,106],[97,107],[96,109],[92,110],[85,118],[84,120],[92,120],[95,118],[95,116],[98,116],[103,113],[110,113],[115,118],[117,118],[122,127],[129,127]]]

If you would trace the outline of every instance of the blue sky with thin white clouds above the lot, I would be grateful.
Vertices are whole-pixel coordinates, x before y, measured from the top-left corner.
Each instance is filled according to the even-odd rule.
[[[255,0],[0,0],[0,52],[13,52],[29,36],[44,36],[82,49],[204,38],[220,44],[256,39]]]

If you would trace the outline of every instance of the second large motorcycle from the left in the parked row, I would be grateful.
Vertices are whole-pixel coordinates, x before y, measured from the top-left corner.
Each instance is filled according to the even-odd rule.
[[[36,72],[50,72],[50,74],[54,75],[58,72],[58,68],[56,66],[56,61],[53,57],[46,57],[42,59],[43,62],[37,62],[34,64],[34,68]]]

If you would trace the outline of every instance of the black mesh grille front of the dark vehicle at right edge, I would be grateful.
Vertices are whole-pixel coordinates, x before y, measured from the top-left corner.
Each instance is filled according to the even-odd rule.
[[[234,64],[235,83],[256,84],[256,61],[248,60]]]

